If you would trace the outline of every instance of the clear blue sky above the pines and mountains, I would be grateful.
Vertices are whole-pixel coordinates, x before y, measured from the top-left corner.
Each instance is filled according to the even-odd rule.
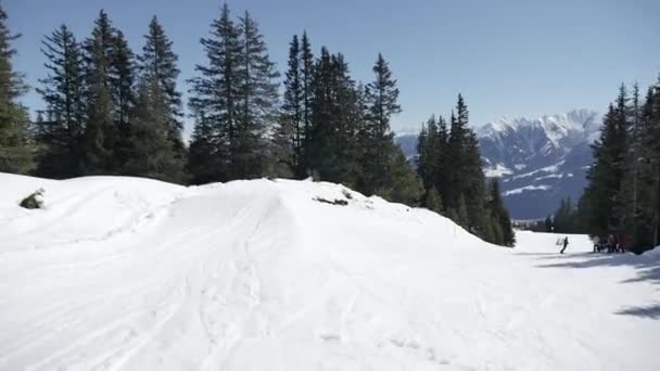
[[[37,87],[45,76],[39,42],[60,24],[78,39],[100,9],[135,51],[156,14],[174,41],[183,80],[204,62],[199,39],[221,0],[0,0],[15,42],[15,66]],[[657,0],[231,0],[261,24],[280,72],[293,34],[306,29],[315,52],[342,52],[358,80],[371,78],[379,52],[390,61],[403,113],[394,129],[448,114],[462,92],[475,126],[500,116],[540,116],[585,107],[604,111],[621,82],[642,87],[660,73]],[[31,108],[42,103],[33,91]]]

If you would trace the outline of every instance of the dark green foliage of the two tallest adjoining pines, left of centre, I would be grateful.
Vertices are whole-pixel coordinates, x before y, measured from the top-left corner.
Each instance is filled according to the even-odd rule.
[[[249,13],[234,25],[225,4],[202,46],[208,64],[198,65],[201,76],[191,81],[195,125],[205,126],[191,143],[189,168],[202,171],[193,181],[261,177],[269,167],[263,144],[277,119],[279,76],[264,38]],[[204,164],[215,165],[211,174]]]

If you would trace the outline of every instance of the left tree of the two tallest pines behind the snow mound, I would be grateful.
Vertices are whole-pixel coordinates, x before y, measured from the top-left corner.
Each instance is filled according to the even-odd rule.
[[[239,152],[239,115],[242,46],[240,29],[223,5],[220,17],[211,25],[211,36],[201,43],[207,65],[196,65],[190,107],[195,128],[190,143],[188,168],[193,182],[226,181],[236,177],[233,163]]]

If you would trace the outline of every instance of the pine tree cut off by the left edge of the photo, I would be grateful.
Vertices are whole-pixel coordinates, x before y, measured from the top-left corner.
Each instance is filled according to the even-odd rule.
[[[27,108],[16,100],[27,91],[23,75],[14,71],[11,59],[16,51],[0,4],[0,171],[27,172],[34,167]]]

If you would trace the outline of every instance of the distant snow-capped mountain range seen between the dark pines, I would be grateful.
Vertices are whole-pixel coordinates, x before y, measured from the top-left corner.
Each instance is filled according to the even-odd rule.
[[[543,218],[561,199],[576,200],[592,164],[591,144],[601,117],[587,110],[538,118],[500,118],[477,129],[484,171],[499,177],[503,195],[516,219]],[[398,138],[407,155],[415,136]],[[415,151],[412,149],[412,151]]]

